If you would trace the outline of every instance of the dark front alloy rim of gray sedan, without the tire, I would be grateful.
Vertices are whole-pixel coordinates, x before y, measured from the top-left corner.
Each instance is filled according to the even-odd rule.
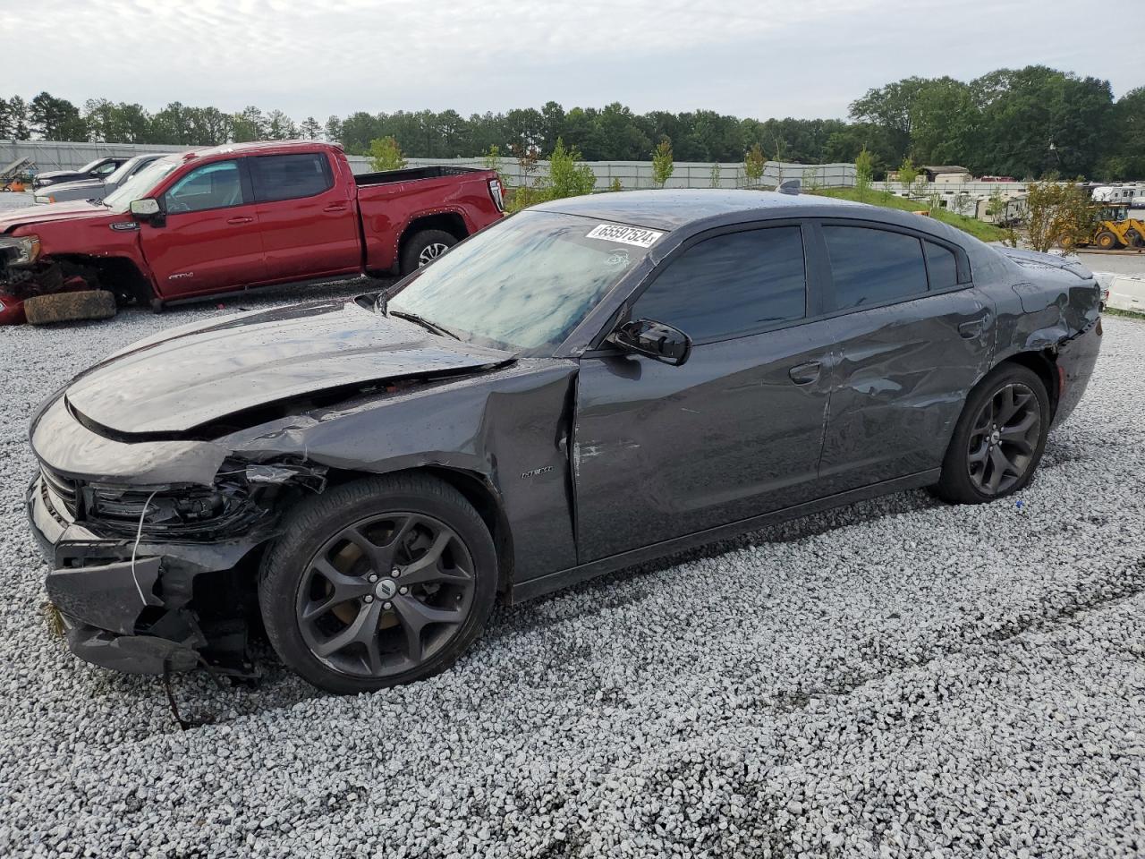
[[[355,522],[307,565],[295,602],[302,640],[342,673],[403,673],[460,631],[474,572],[468,547],[439,519],[397,512]]]

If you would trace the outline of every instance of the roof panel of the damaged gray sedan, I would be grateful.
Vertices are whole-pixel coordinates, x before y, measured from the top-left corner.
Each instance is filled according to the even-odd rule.
[[[682,230],[687,234],[772,218],[846,218],[929,233],[964,247],[977,242],[962,230],[913,212],[815,194],[684,188],[614,191],[556,199],[529,211],[559,212],[656,230],[687,228]]]

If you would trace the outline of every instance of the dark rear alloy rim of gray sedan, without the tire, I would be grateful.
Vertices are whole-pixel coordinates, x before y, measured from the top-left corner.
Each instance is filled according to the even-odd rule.
[[[966,467],[974,488],[1002,495],[1025,478],[1041,431],[1041,405],[1027,385],[1016,381],[996,391],[970,431]]]

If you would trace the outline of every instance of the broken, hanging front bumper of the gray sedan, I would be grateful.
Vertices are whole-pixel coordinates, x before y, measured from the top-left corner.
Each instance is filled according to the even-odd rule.
[[[26,507],[50,566],[48,599],[60,610],[77,656],[126,673],[185,671],[202,661],[227,672],[248,672],[239,607],[230,616],[200,617],[195,582],[234,570],[266,534],[210,544],[136,545],[132,538],[100,537],[71,519],[42,474],[27,489]]]

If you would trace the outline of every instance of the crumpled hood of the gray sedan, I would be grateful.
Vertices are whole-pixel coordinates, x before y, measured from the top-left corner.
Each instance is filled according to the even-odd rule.
[[[165,331],[77,377],[66,399],[118,433],[177,434],[329,388],[492,368],[513,357],[353,301],[318,301]]]

